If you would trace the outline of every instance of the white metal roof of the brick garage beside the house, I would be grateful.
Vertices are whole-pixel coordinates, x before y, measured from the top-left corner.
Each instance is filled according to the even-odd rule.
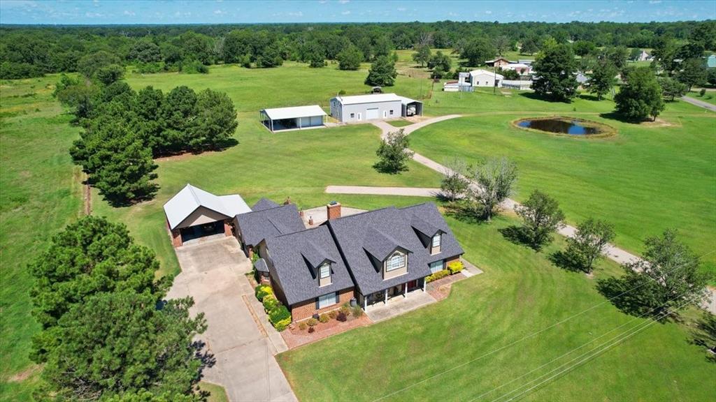
[[[241,195],[213,195],[193,185],[186,185],[164,205],[169,227],[174,229],[198,207],[205,207],[226,217],[251,212]]]

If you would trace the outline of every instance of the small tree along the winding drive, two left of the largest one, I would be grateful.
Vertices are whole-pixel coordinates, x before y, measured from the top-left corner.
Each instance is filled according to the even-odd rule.
[[[552,233],[561,227],[564,220],[557,200],[539,190],[534,190],[528,200],[516,208],[516,212],[523,220],[522,234],[535,250],[552,241]]]

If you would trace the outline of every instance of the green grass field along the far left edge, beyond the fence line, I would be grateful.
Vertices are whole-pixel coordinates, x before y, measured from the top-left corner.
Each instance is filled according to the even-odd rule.
[[[26,265],[82,211],[80,172],[67,152],[77,129],[52,99],[57,77],[0,83],[0,399],[28,400],[39,325],[30,316]],[[26,378],[26,379],[25,379]],[[25,381],[21,381],[25,379]]]

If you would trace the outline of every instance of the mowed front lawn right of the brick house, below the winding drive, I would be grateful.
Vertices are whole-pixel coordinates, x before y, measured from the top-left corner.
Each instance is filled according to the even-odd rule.
[[[602,261],[590,279],[548,262],[546,255],[563,247],[561,238],[542,253],[506,241],[498,229],[516,223],[511,218],[489,225],[453,218],[448,223],[465,257],[485,273],[453,285],[440,303],[281,353],[279,364],[299,400],[518,396],[561,365],[580,361],[582,353],[649,323],[624,315],[596,292],[597,278],[618,272],[614,263]],[[524,400],[712,401],[713,363],[690,339],[684,325],[654,323]]]

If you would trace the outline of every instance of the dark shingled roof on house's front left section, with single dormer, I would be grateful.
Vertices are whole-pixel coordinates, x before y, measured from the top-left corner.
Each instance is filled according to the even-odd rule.
[[[266,239],[273,266],[271,278],[286,295],[286,303],[311,300],[321,295],[353,287],[343,259],[328,227],[319,226]],[[331,261],[330,285],[319,287],[318,266]]]

